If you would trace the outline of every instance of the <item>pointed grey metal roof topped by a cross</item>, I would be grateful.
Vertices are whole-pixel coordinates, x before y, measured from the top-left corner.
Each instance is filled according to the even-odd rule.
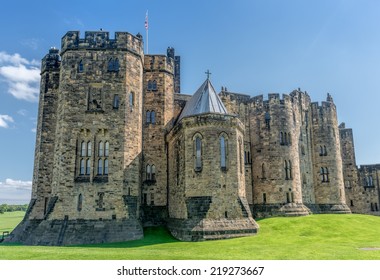
[[[186,103],[178,120],[204,113],[228,114],[208,78]]]

